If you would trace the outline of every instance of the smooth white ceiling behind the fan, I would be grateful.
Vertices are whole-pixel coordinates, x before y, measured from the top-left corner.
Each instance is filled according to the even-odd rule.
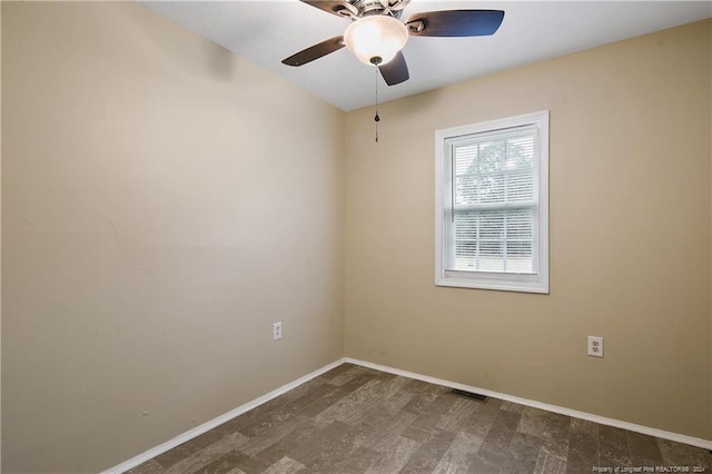
[[[280,62],[343,34],[347,19],[299,0],[144,3],[343,110],[375,102],[374,69],[346,48],[299,68]],[[380,101],[712,17],[710,0],[412,0],[402,19],[451,9],[504,10],[505,17],[493,37],[409,38],[403,53],[411,79],[388,87],[379,78]]]

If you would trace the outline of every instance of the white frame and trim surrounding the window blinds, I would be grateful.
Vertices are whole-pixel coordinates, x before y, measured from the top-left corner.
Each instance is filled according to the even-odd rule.
[[[526,275],[446,271],[443,220],[451,201],[443,192],[451,180],[447,140],[522,126],[538,129],[538,271]],[[435,285],[548,294],[548,110],[435,131]]]

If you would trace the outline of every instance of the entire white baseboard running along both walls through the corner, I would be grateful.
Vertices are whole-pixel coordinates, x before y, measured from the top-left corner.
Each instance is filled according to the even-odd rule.
[[[590,422],[595,422],[595,423],[600,423],[602,425],[607,425],[607,426],[614,426],[617,428],[623,428],[623,429],[629,429],[632,432],[636,432],[636,433],[642,433],[642,434],[646,434],[646,435],[651,435],[651,436],[655,436],[655,437],[660,437],[663,440],[670,440],[670,441],[674,441],[678,443],[684,443],[684,444],[689,444],[692,446],[699,446],[699,447],[703,447],[705,450],[712,450],[712,441],[710,440],[702,440],[699,437],[694,437],[694,436],[688,436],[688,435],[683,435],[683,434],[678,434],[678,433],[671,433],[671,432],[666,432],[664,429],[657,429],[657,428],[651,428],[647,426],[642,426],[642,425],[636,425],[634,423],[629,423],[629,422],[622,422],[620,419],[614,419],[614,418],[607,418],[605,416],[599,416],[599,415],[593,415],[591,413],[585,413],[585,412],[578,412],[576,409],[570,409],[570,408],[565,408],[563,406],[557,406],[557,405],[551,405],[548,403],[542,403],[542,402],[536,402],[533,399],[527,399],[527,398],[521,398],[518,396],[514,396],[514,395],[507,395],[507,394],[503,394],[500,392],[494,392],[494,391],[490,391],[486,388],[479,388],[479,387],[475,387],[472,385],[465,385],[465,384],[458,384],[456,382],[449,382],[449,381],[445,381],[442,378],[436,378],[436,377],[431,377],[427,375],[422,375],[422,374],[416,374],[415,372],[408,372],[408,371],[402,371],[399,368],[394,368],[394,367],[388,367],[386,365],[380,365],[380,364],[374,364],[370,362],[366,362],[366,361],[360,361],[360,359],[356,359],[356,358],[352,358],[352,357],[344,357],[340,358],[338,361],[335,361],[317,371],[314,371],[310,374],[305,375],[304,377],[297,378],[294,382],[290,382],[286,385],[283,385],[279,388],[276,388],[271,392],[269,392],[266,395],[263,395],[258,398],[255,398],[251,402],[248,402],[244,405],[238,406],[237,408],[217,416],[212,419],[210,419],[209,422],[206,422],[199,426],[196,426],[195,428],[188,429],[187,432],[174,437],[170,441],[167,441],[166,443],[162,443],[156,447],[152,447],[148,451],[146,451],[145,453],[141,453],[137,456],[131,457],[130,460],[118,464],[111,468],[108,468],[106,471],[103,471],[102,474],[120,474],[123,473],[132,467],[138,466],[139,464],[142,464],[156,456],[158,456],[159,454],[162,454],[165,452],[167,452],[168,450],[172,450],[174,447],[192,440],[196,436],[201,435],[202,433],[210,431],[212,428],[215,428],[216,426],[221,425],[225,422],[228,422],[233,418],[235,418],[236,416],[241,415],[245,412],[249,412],[253,408],[258,407],[259,405],[269,402],[273,398],[278,397],[279,395],[289,392],[293,388],[298,387],[299,385],[304,384],[305,382],[310,381],[312,378],[318,377],[319,375],[335,368],[338,367],[339,365],[344,364],[344,363],[349,363],[349,364],[355,364],[355,365],[360,365],[363,367],[368,367],[368,368],[374,368],[376,371],[382,371],[382,372],[386,372],[388,374],[394,374],[394,375],[400,375],[404,377],[409,377],[409,378],[415,378],[416,381],[423,381],[423,382],[427,382],[431,384],[436,384],[436,385],[443,385],[445,387],[451,387],[451,388],[459,388],[462,391],[466,391],[466,392],[475,392],[482,395],[486,395],[493,398],[500,398],[500,399],[504,399],[506,402],[512,402],[512,403],[517,403],[520,405],[524,405],[524,406],[531,406],[533,408],[540,408],[540,409],[545,409],[547,412],[553,412],[553,413],[558,413],[561,415],[566,415],[566,416],[571,416],[574,418],[580,418],[580,419],[587,419]]]

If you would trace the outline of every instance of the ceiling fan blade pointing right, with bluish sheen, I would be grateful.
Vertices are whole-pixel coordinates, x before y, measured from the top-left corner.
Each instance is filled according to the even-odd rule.
[[[486,37],[502,24],[502,10],[445,10],[408,18],[408,32],[416,37]]]

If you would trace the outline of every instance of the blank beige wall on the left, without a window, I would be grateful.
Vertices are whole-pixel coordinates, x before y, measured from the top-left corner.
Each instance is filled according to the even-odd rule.
[[[137,3],[2,13],[3,472],[110,467],[340,357],[344,113]]]

